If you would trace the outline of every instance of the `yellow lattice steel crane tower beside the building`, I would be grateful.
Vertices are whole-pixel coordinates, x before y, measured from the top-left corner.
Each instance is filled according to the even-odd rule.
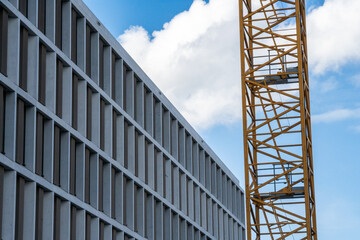
[[[239,0],[247,239],[316,240],[305,0]]]

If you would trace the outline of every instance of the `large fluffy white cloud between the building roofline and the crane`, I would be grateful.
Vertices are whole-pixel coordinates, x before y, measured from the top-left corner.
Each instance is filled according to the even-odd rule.
[[[236,0],[195,0],[152,34],[132,27],[118,39],[195,127],[240,119]]]

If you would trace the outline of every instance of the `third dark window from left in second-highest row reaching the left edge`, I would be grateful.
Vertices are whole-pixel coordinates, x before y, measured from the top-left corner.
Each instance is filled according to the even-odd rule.
[[[36,161],[35,173],[43,176],[44,160],[44,117],[41,113],[36,116]]]

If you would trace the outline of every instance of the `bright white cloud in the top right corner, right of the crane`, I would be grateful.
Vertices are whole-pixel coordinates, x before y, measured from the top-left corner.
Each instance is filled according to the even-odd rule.
[[[325,0],[308,14],[309,61],[316,73],[360,60],[359,12],[359,0]]]

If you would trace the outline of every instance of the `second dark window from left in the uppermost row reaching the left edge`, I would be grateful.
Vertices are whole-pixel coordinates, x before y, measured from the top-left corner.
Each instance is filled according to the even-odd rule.
[[[28,39],[29,33],[26,28],[20,28],[20,66],[19,86],[27,91],[27,69],[28,69]]]

